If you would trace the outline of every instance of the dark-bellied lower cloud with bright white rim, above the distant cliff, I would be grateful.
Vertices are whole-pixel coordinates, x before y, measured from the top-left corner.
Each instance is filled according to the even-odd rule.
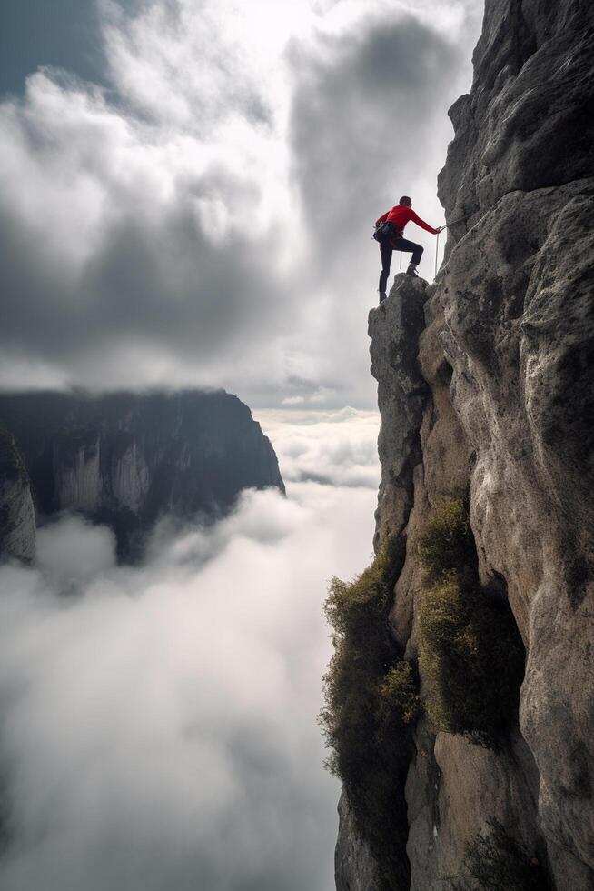
[[[163,142],[104,95],[48,75],[30,79],[26,102],[0,112],[3,353],[65,365],[72,383],[156,383],[177,366],[219,385],[232,361],[265,350],[292,311],[281,319],[273,241],[268,255],[234,217],[260,200],[241,166],[193,170],[182,136]],[[232,191],[213,234],[207,204]]]

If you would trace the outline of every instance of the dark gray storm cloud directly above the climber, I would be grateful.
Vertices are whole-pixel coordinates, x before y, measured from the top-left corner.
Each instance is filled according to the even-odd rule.
[[[316,244],[343,268],[378,209],[417,191],[439,163],[448,122],[435,120],[436,94],[460,67],[460,47],[412,15],[382,12],[362,33],[322,35],[306,59],[295,53],[306,72],[292,117],[297,178]],[[431,190],[432,178],[423,197]]]

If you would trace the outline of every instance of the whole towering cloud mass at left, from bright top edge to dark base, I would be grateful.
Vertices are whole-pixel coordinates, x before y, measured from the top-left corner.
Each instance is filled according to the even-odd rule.
[[[2,352],[99,388],[250,381],[258,351],[282,377],[298,304],[262,67],[224,4],[102,11],[114,92],[45,70],[0,107]]]

